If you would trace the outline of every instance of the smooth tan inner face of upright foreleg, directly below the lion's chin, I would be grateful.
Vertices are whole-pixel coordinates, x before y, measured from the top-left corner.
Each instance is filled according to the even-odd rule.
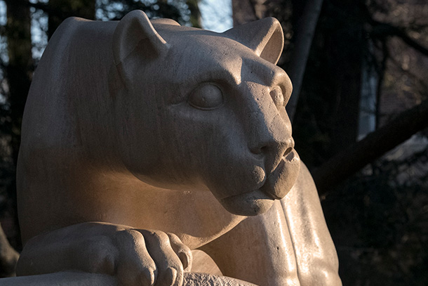
[[[257,285],[300,285],[288,226],[279,201],[201,247],[223,275]]]

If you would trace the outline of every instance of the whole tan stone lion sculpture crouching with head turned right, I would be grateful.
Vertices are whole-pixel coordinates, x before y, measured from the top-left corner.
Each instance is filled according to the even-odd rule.
[[[199,249],[257,285],[340,285],[282,47],[274,18],[221,34],[142,11],[63,22],[22,122],[18,275],[196,285]]]

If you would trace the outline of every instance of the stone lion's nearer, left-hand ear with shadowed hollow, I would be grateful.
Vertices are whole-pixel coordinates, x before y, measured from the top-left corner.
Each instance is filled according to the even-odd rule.
[[[147,15],[140,10],[125,15],[114,30],[114,65],[119,66],[133,52],[138,51],[139,58],[153,60],[168,51],[169,45],[154,30]],[[120,68],[125,72],[124,67]],[[126,74],[123,74],[126,76]]]

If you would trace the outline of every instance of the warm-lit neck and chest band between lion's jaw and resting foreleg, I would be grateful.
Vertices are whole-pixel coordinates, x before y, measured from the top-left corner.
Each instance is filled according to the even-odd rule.
[[[196,248],[243,219],[229,214],[208,190],[166,190],[123,169],[68,162],[49,174],[31,174],[21,186],[27,193],[20,200],[26,206],[20,212],[24,240],[74,223],[105,221],[175,233]]]

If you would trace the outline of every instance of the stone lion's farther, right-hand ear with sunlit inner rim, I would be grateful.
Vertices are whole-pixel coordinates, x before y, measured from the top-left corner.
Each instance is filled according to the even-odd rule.
[[[281,56],[284,36],[275,18],[264,18],[224,32],[226,37],[251,48],[260,58],[276,64]]]

